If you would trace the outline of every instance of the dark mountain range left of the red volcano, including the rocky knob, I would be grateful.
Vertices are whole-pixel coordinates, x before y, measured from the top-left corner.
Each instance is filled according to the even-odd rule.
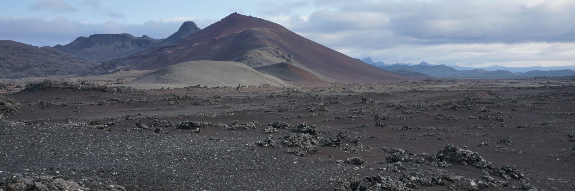
[[[198,32],[194,22],[187,21],[165,39],[132,34],[92,34],[78,37],[66,45],[32,46],[11,40],[0,40],[0,79],[87,75],[102,62],[172,44]]]

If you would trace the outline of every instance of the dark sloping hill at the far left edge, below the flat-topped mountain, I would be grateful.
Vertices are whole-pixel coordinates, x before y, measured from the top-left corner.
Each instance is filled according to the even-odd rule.
[[[77,75],[99,65],[50,46],[38,48],[11,40],[0,40],[0,78]]]

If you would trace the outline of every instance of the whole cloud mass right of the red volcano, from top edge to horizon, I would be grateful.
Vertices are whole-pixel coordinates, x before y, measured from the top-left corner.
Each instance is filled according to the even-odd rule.
[[[312,4],[316,10],[307,17],[267,19],[348,56],[370,56],[386,63],[575,65],[575,1],[316,0]]]

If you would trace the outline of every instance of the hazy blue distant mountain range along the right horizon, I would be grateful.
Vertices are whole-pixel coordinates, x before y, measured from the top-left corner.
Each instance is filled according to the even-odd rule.
[[[526,71],[526,72],[511,72],[504,69],[496,69],[502,68],[501,66],[492,66],[488,68],[496,69],[494,71],[489,71],[486,69],[469,69],[467,67],[458,67],[458,68],[465,68],[462,70],[455,69],[453,67],[448,67],[447,65],[440,64],[440,65],[432,65],[429,63],[421,62],[420,64],[416,65],[407,65],[407,64],[381,64],[383,62],[374,62],[371,60],[370,57],[366,59],[362,59],[367,64],[374,65],[378,68],[384,69],[386,71],[395,71],[395,72],[402,72],[405,73],[407,71],[412,72],[420,72],[426,75],[434,76],[434,77],[536,77],[536,76],[573,76],[575,75],[575,71],[573,69],[561,69],[561,70],[550,70],[550,71]],[[503,68],[512,68],[512,67],[503,67]],[[527,68],[527,67],[526,67]],[[534,67],[528,67],[534,68]],[[568,67],[536,67],[536,68],[574,68],[575,66],[568,66]],[[396,73],[401,75],[402,73]],[[405,75],[408,76],[408,75]],[[411,76],[411,75],[410,75]]]

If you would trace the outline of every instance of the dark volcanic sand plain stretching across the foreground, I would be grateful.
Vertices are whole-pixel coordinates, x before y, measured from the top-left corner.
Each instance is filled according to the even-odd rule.
[[[389,153],[383,147],[435,155],[453,144],[477,152],[493,166],[515,165],[538,189],[573,190],[575,142],[568,136],[575,131],[572,83],[553,78],[428,80],[304,88],[180,88],[147,94],[24,90],[6,95],[22,104],[22,114],[6,116],[0,124],[0,177],[55,176],[59,171],[92,189],[117,184],[126,190],[333,190],[338,180],[352,177],[379,174],[400,180],[405,171],[382,169],[393,164],[386,163]],[[474,110],[450,103],[462,100],[473,102]],[[388,125],[375,126],[375,115],[385,116],[381,123]],[[175,128],[182,120],[212,125],[199,133]],[[261,125],[256,125],[259,130],[215,125],[235,120]],[[151,127],[138,128],[138,121]],[[104,126],[109,122],[115,125]],[[267,137],[282,142],[291,133],[286,129],[264,133],[267,123],[273,122],[313,124],[323,138],[342,132],[359,141],[342,139],[357,153],[316,146],[315,154],[300,157],[286,152],[297,147],[254,146]],[[156,128],[160,133],[154,133]],[[497,143],[506,138],[512,145]],[[483,142],[489,145],[478,146]],[[355,156],[367,162],[342,163]],[[450,164],[402,163],[407,172],[442,169],[482,180],[481,169]],[[522,186],[514,179],[509,185]]]

